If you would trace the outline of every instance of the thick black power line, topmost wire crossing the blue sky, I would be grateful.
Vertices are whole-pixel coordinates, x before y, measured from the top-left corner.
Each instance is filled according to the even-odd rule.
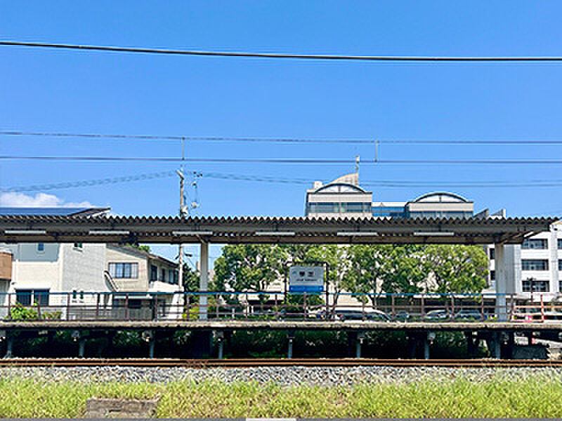
[[[64,50],[102,51],[111,53],[144,53],[162,55],[195,55],[207,57],[234,58],[275,58],[294,60],[345,60],[345,61],[375,61],[375,62],[559,62],[560,56],[414,56],[414,55],[329,55],[329,54],[294,54],[294,53],[249,53],[240,51],[200,51],[176,50],[170,48],[123,47],[123,46],[94,46],[78,44],[51,44],[22,41],[0,41],[0,46],[18,46],[32,48],[58,48]]]

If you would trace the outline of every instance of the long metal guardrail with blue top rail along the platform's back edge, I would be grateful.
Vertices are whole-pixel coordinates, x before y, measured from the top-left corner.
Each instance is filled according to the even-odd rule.
[[[328,303],[325,298],[328,298]],[[303,320],[546,321],[562,305],[528,305],[515,294],[0,293],[5,321]],[[336,304],[334,305],[334,301]],[[498,305],[497,302],[505,302]],[[537,316],[540,314],[540,317]]]

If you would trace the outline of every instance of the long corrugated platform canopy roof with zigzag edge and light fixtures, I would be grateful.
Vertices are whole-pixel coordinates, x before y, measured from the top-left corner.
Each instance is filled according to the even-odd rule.
[[[0,242],[522,243],[557,220],[0,215]]]

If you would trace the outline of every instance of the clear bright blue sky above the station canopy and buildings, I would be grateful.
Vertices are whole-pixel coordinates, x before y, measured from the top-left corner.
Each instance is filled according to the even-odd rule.
[[[0,1],[0,39],[356,55],[561,55],[559,1]],[[560,139],[561,64],[396,64],[0,47],[0,129],[379,139]],[[381,159],[556,159],[562,146],[381,145]],[[190,142],[188,156],[372,159],[372,145]],[[0,137],[0,153],[180,156],[178,142]],[[1,161],[0,187],[173,170],[175,163]],[[561,166],[361,166],[406,201],[451,181],[560,180]],[[331,180],[352,165],[190,171]],[[176,178],[44,191],[119,214],[177,212]],[[306,185],[202,178],[195,215],[302,215]],[[562,214],[560,187],[455,188],[476,210]],[[27,192],[34,196],[41,192]]]

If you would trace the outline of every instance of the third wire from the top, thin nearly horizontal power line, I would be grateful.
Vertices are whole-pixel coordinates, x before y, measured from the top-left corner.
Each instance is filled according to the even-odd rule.
[[[354,164],[354,159],[294,159],[294,158],[176,158],[164,156],[22,156],[2,155],[0,160],[30,161],[91,161],[91,162],[200,162],[200,163],[280,163],[280,164]],[[374,159],[362,160],[362,165],[374,164],[447,164],[447,165],[560,165],[559,159]]]

